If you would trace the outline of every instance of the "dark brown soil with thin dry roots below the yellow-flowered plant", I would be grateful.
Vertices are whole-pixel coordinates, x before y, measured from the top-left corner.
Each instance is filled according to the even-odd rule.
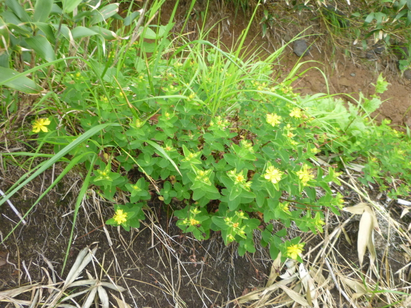
[[[71,175],[71,178],[76,177]],[[12,177],[7,181],[16,179]],[[11,198],[23,213],[36,199],[30,191],[41,189],[41,179],[33,182],[39,184]],[[128,287],[129,292],[124,292],[124,296],[132,305],[162,308],[174,307],[178,303],[181,307],[215,307],[264,285],[271,266],[267,252],[239,257],[236,247],[224,246],[218,234],[204,242],[193,240],[190,235],[184,236],[170,217],[172,209],[158,200],[145,212],[147,216],[160,218],[153,224],[146,219],[146,224],[130,233],[106,226],[113,242],[110,246],[102,221],[113,215],[112,206],[104,203],[96,206],[98,200],[92,199],[96,197],[92,190],[80,208],[67,266],[60,275],[76,198],[68,196],[62,200],[62,197],[71,182],[52,190],[27,216],[27,224],[17,226],[4,242],[0,252],[0,290],[44,280],[46,274],[42,267],[51,272],[44,258],[53,264],[58,282],[64,280],[78,252],[94,242],[99,243],[97,259],[105,260],[103,268],[117,284]],[[47,187],[50,183],[46,181],[44,184]],[[6,190],[9,185],[3,186]],[[18,219],[7,204],[0,207],[0,215],[0,234],[4,238]],[[166,230],[169,236],[160,229]],[[93,268],[91,264],[86,267],[90,273],[94,273]],[[108,281],[104,276],[103,280]],[[0,307],[3,307],[2,303]]]

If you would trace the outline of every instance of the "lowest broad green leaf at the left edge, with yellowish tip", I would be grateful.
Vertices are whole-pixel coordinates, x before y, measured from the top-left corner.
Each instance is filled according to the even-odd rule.
[[[12,81],[8,79],[13,78],[15,75],[20,75]],[[21,91],[27,94],[38,94],[43,90],[41,86],[36,84],[31,79],[27,78],[24,73],[18,73],[15,70],[6,67],[0,67],[0,86],[12,88],[17,91]]]

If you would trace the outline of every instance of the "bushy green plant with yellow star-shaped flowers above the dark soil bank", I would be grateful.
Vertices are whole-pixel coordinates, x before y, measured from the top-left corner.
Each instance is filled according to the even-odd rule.
[[[94,110],[78,104],[87,96],[81,79],[93,77],[67,80],[63,97],[70,108],[83,110],[76,115],[81,131],[104,121],[121,124],[106,127],[70,154],[83,155],[86,164],[88,153],[98,155],[90,182],[116,204],[107,224],[139,227],[147,201],[158,198],[173,206],[182,232],[198,240],[218,231],[244,255],[255,251],[260,232],[272,258],[281,252],[301,261],[304,243],[285,241],[287,228],[323,232],[324,211],[339,214],[344,200],[331,183],[340,185],[340,173],[321,167],[315,156],[339,151],[341,139],[337,146],[329,142],[312,117],[313,107],[301,107],[303,98],[289,86],[270,85],[270,65],[258,66],[239,85],[233,63],[197,61],[161,60],[150,75],[120,80],[123,88],[114,97],[95,93],[100,99]],[[44,134],[55,127],[49,124],[39,119],[33,132]],[[48,133],[56,151],[67,142],[64,126]],[[137,172],[137,181],[130,180],[130,171],[134,178]],[[119,204],[119,195],[128,202]],[[273,221],[284,229],[275,230]]]

